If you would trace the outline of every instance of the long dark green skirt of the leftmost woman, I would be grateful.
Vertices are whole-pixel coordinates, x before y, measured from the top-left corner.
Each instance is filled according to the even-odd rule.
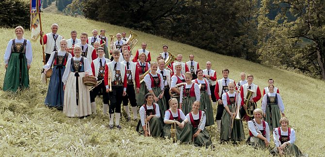
[[[21,58],[21,69],[20,59]],[[21,71],[21,79],[19,79]],[[3,91],[16,92],[17,89],[29,88],[29,75],[27,70],[27,59],[24,53],[11,53],[8,68],[4,75]]]

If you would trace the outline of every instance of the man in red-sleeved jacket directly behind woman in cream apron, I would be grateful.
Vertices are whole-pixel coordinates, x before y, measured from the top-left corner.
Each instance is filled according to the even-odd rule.
[[[80,35],[81,43],[77,43],[76,45],[81,46],[81,51],[82,51],[81,56],[86,57],[89,63],[91,63],[93,60],[97,58],[97,54],[95,48],[87,43],[87,38],[88,38],[87,33],[81,33]],[[73,51],[71,55],[74,56]]]

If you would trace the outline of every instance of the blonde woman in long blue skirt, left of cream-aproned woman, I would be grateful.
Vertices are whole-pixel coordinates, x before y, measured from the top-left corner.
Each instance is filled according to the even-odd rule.
[[[64,95],[62,76],[65,72],[65,64],[72,55],[66,52],[67,42],[65,39],[60,41],[61,49],[59,51],[52,52],[49,57],[49,61],[44,65],[44,73],[46,73],[49,68],[52,68],[51,78],[49,80],[49,89],[45,98],[45,105],[49,107],[55,107],[57,109],[63,109]]]

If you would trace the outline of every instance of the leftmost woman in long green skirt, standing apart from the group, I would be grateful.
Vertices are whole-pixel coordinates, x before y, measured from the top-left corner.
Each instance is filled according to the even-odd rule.
[[[4,54],[6,73],[3,80],[3,91],[16,92],[29,88],[28,70],[33,60],[32,44],[23,38],[24,29],[15,28],[16,38],[9,41]]]

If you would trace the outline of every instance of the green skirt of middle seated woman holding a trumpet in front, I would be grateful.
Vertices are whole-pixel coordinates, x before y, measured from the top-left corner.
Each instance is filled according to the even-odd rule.
[[[171,128],[171,124],[165,124],[163,126],[163,137],[168,137],[170,138],[170,128]],[[179,128],[178,125],[176,125],[176,136],[177,136],[177,140],[180,141],[181,143],[188,143],[192,140],[192,130],[191,130],[191,124],[190,123],[186,123],[184,125],[184,128]]]

